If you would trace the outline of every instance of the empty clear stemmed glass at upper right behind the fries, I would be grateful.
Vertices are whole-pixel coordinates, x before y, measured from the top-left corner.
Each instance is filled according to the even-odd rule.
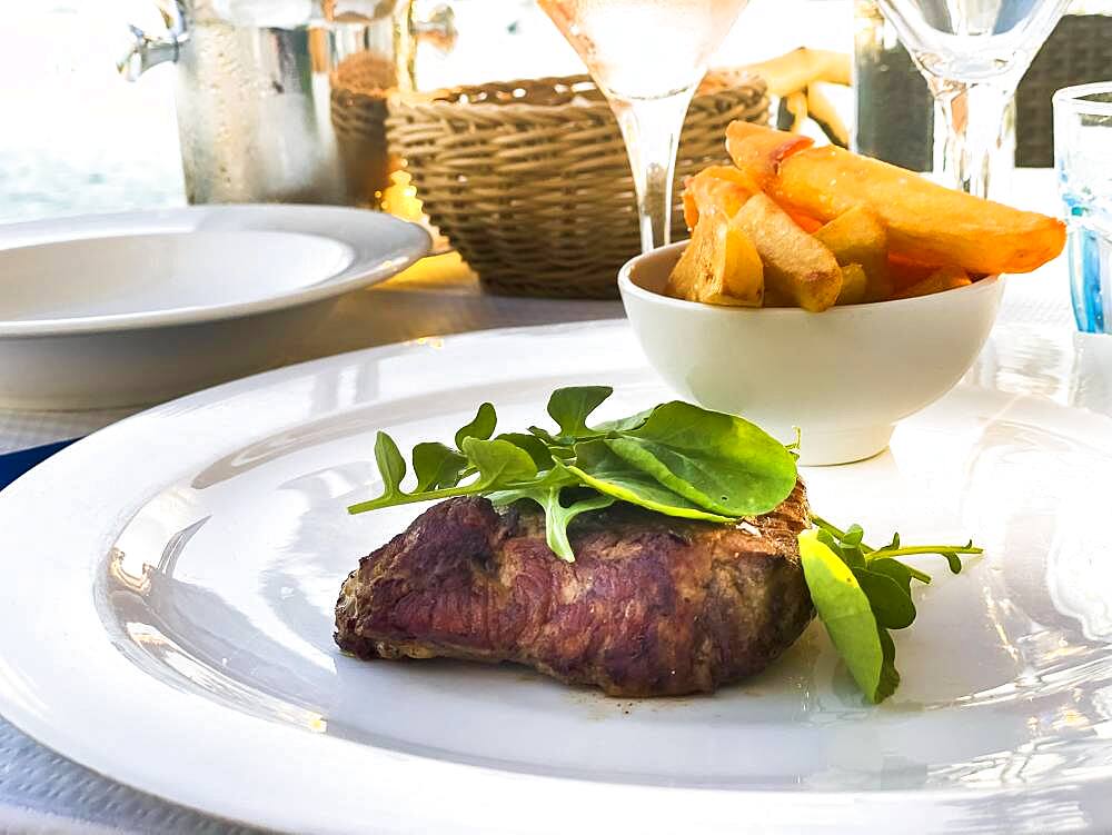
[[[1004,112],[1069,0],[878,0],[935,102],[934,170],[987,197]]]

